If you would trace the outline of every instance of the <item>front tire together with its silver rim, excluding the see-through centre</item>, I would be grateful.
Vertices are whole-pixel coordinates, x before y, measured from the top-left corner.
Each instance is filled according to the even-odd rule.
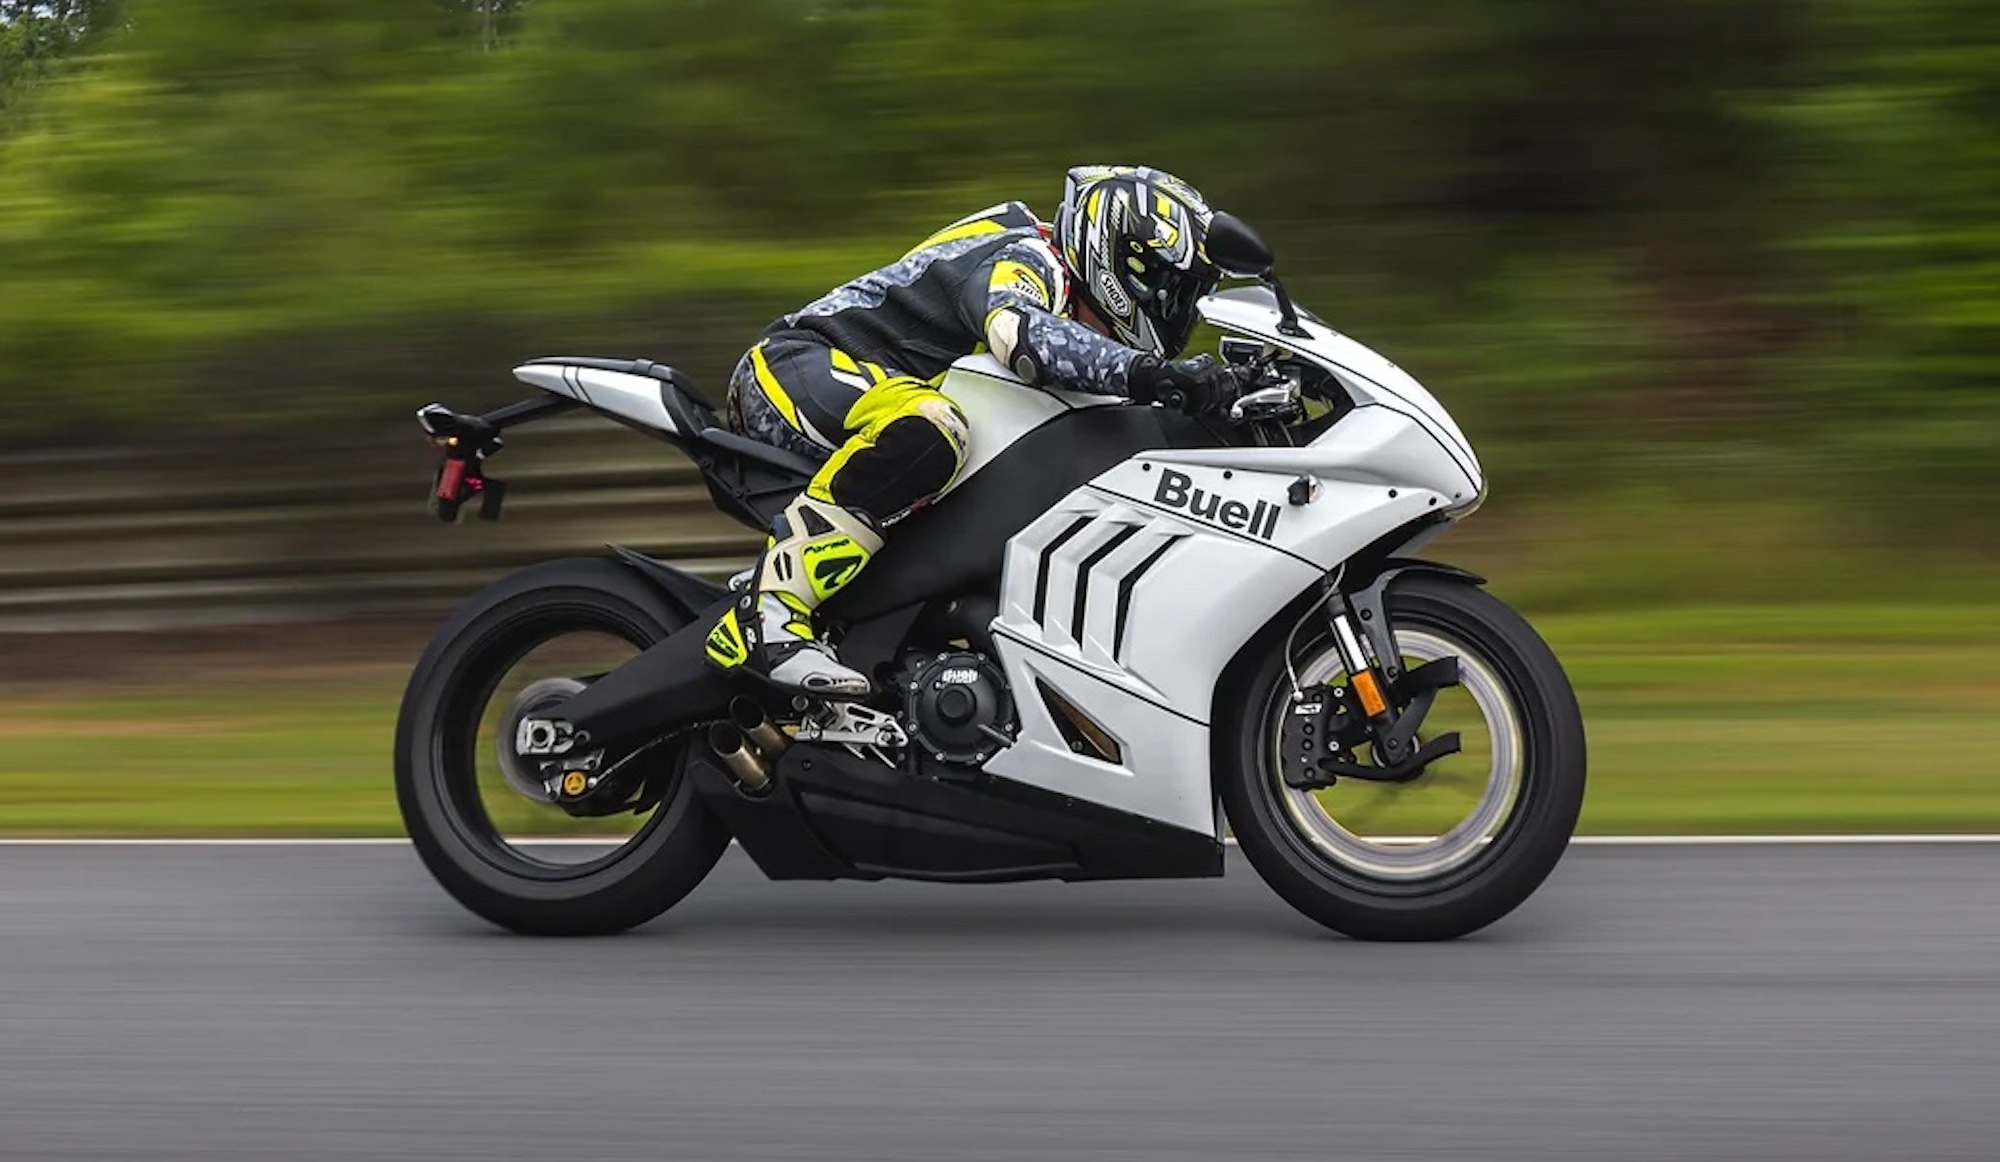
[[[1358,940],[1452,940],[1518,908],[1568,848],[1584,802],[1582,712],[1548,644],[1472,584],[1404,576],[1386,610],[1408,656],[1420,642],[1460,656],[1468,686],[1480,684],[1470,690],[1478,706],[1500,718],[1488,724],[1488,786],[1468,824],[1374,844],[1302,808],[1306,792],[1284,786],[1272,736],[1290,700],[1282,648],[1242,688],[1218,782],[1244,856],[1288,904]],[[1326,656],[1324,634],[1322,620],[1296,652]]]

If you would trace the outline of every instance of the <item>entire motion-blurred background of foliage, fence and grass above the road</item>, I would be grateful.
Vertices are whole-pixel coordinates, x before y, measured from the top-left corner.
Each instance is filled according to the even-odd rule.
[[[392,832],[502,568],[748,550],[530,428],[1078,162],[1196,182],[1462,420],[1436,554],[1570,666],[1588,830],[2000,826],[1990,0],[0,0],[0,832]]]

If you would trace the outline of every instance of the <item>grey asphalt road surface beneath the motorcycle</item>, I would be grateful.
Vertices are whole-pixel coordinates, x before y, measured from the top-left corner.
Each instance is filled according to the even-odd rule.
[[[522,940],[404,848],[0,850],[0,1158],[2000,1156],[2000,846],[1574,850],[1452,946],[1256,876]]]

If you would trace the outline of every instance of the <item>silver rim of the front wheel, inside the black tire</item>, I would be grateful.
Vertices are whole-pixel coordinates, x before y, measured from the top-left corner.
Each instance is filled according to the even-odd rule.
[[[1486,660],[1468,646],[1426,628],[1398,626],[1396,640],[1402,648],[1402,664],[1406,668],[1438,658],[1458,658],[1460,698],[1470,700],[1472,708],[1476,708],[1478,718],[1482,718],[1482,730],[1474,730],[1472,722],[1456,716],[1440,716],[1434,710],[1430,720],[1424,722],[1420,738],[1460,730],[1466,736],[1466,752],[1434,764],[1432,770],[1426,770],[1408,788],[1424,788],[1426,782],[1436,778],[1434,772],[1452,764],[1456,772],[1452,776],[1454,782],[1478,786],[1478,798],[1470,810],[1458,822],[1428,830],[1428,834],[1394,834],[1394,830],[1370,828],[1352,818],[1342,822],[1328,804],[1330,798],[1342,794],[1342,788],[1350,788],[1350,784],[1358,784],[1360,780],[1344,782],[1328,792],[1286,786],[1280,774],[1280,748],[1290,692],[1282,686],[1264,718],[1270,754],[1268,772],[1284,804],[1284,812],[1292,820],[1294,832],[1322,858],[1374,880],[1428,880],[1474,860],[1500,834],[1508,818],[1512,818],[1522,792],[1526,746],[1520,714],[1512,698],[1508,698],[1506,684]],[[1318,654],[1312,654],[1298,666],[1300,686],[1308,690],[1322,684],[1338,684],[1340,678],[1344,678],[1344,666],[1332,642],[1326,642]],[[1444,700],[1440,698],[1442,706]],[[1476,770],[1482,758],[1486,770],[1480,784]],[[1384,784],[1360,786],[1368,788],[1368,794],[1378,796],[1402,792],[1402,788]]]

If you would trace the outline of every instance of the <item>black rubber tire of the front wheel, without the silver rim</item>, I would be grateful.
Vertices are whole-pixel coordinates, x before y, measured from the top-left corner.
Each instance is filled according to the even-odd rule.
[[[1288,904],[1358,940],[1452,940],[1518,908],[1556,868],[1584,802],[1584,722],[1562,664],[1498,598],[1416,574],[1390,584],[1386,606],[1398,632],[1422,630],[1480,662],[1512,706],[1520,784],[1492,836],[1434,876],[1388,876],[1314,844],[1286,810],[1270,734],[1290,696],[1282,648],[1236,702],[1218,782],[1244,856]]]

